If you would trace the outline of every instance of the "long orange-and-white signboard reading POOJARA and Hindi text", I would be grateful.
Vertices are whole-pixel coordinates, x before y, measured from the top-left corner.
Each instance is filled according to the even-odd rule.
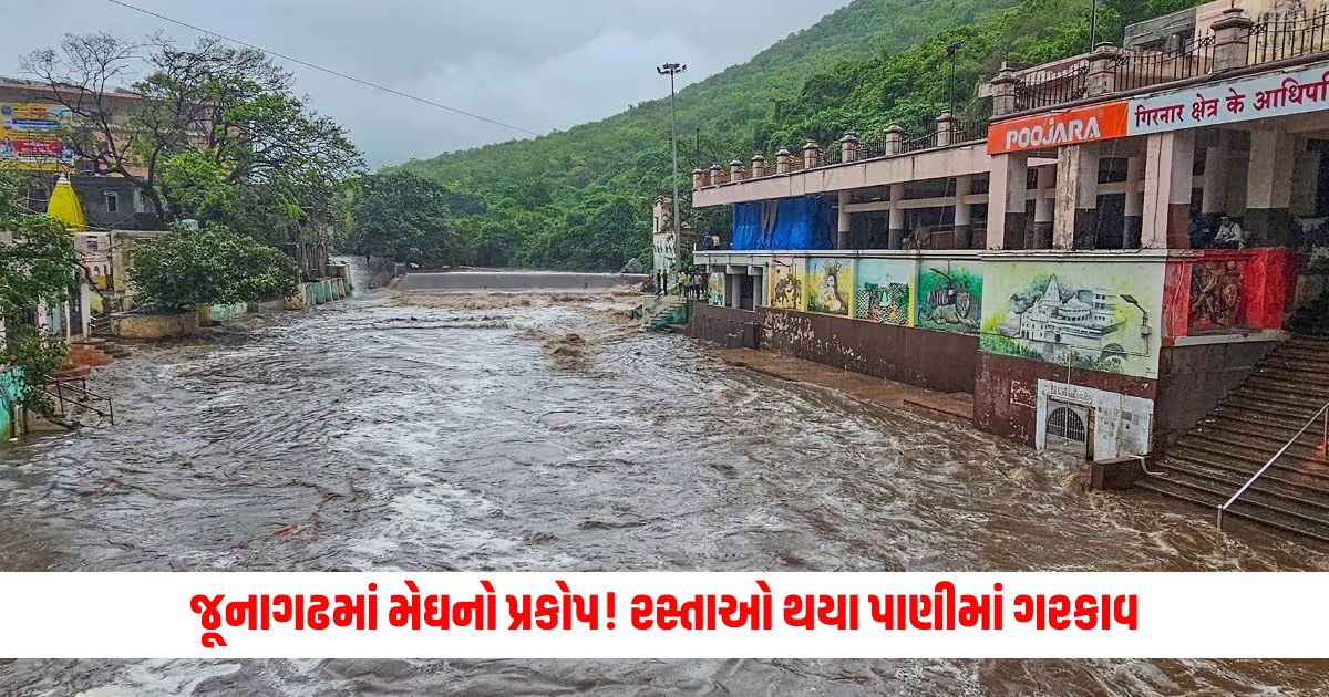
[[[987,153],[1021,153],[1128,135],[1220,126],[1329,109],[1329,64],[1267,73],[993,123]]]

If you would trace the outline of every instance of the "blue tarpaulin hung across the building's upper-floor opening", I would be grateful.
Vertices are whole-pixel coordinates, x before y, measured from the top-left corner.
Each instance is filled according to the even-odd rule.
[[[734,250],[829,250],[831,200],[781,198],[734,204]]]

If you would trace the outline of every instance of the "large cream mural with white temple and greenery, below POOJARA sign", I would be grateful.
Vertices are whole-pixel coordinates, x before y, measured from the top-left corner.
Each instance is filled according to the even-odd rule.
[[[979,347],[1158,377],[1164,264],[989,262]]]

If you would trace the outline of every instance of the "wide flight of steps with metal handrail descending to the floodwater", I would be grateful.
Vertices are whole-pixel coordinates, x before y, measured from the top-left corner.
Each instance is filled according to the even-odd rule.
[[[1281,344],[1138,483],[1208,508],[1220,504],[1329,402],[1329,340]],[[1228,518],[1329,543],[1329,457],[1321,422],[1306,429],[1235,503]]]

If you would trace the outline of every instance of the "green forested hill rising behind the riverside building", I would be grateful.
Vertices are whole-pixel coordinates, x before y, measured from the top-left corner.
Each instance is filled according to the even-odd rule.
[[[1118,39],[1124,21],[1191,4],[1107,0],[1099,4],[1099,36]],[[692,166],[769,155],[809,137],[828,145],[848,127],[870,134],[892,119],[936,117],[948,101],[950,42],[960,44],[964,106],[1002,60],[1039,62],[1084,50],[1088,5],[856,0],[747,64],[679,92],[683,177]],[[466,250],[457,262],[618,268],[649,250],[649,199],[671,190],[670,166],[666,97],[566,131],[399,169],[449,190],[447,234]]]

